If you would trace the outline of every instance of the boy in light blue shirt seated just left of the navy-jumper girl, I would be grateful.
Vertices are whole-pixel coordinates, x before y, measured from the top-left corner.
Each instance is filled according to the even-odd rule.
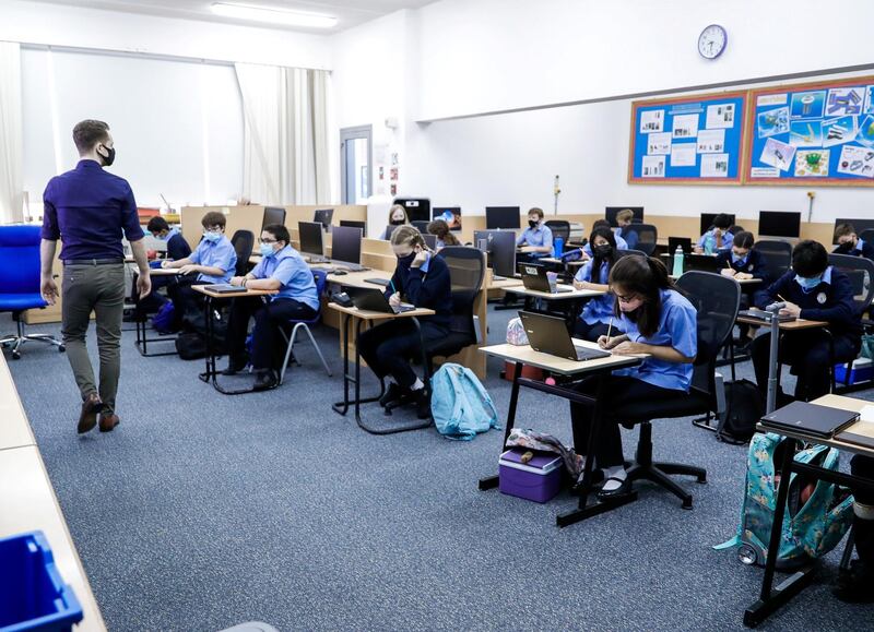
[[[234,375],[249,363],[246,354],[246,333],[249,319],[252,330],[252,368],[256,391],[276,385],[273,351],[283,349],[285,341],[280,327],[290,320],[310,320],[319,311],[319,295],[312,271],[300,253],[291,247],[288,229],[282,224],[268,224],[261,230],[261,261],[246,276],[235,276],[231,285],[251,289],[275,289],[277,294],[264,303],[261,297],[235,298],[227,322],[227,369],[223,375]]]

